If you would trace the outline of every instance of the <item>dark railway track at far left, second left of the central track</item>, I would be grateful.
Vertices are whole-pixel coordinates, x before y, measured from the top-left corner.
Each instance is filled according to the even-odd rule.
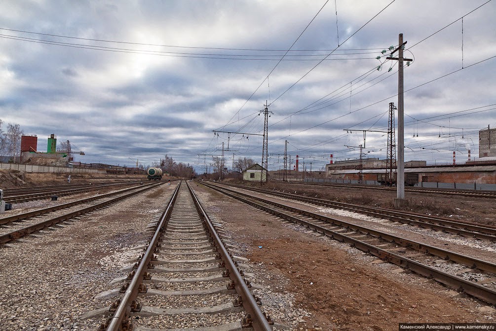
[[[78,193],[97,191],[101,189],[112,189],[114,187],[133,185],[138,182],[106,183],[106,184],[77,184],[77,185],[53,185],[22,189],[5,189],[4,199],[7,203],[20,203],[26,201],[50,199],[53,196],[63,197]]]

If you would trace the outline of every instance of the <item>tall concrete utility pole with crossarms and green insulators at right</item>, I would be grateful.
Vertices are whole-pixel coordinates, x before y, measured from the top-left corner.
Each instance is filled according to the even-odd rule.
[[[396,170],[396,205],[402,204],[398,200],[405,199],[405,141],[404,141],[404,120],[403,120],[403,61],[413,61],[412,59],[403,58],[403,48],[406,45],[403,42],[403,33],[398,35],[398,48],[395,49],[388,60],[398,60],[398,154]],[[393,54],[398,51],[398,57],[393,58]]]

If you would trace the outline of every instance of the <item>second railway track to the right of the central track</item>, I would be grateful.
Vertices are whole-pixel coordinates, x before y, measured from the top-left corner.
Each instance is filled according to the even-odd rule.
[[[456,234],[460,236],[496,242],[496,226],[494,225],[481,224],[481,223],[475,223],[475,222],[469,222],[463,220],[453,220],[446,217],[425,215],[425,214],[419,214],[409,211],[399,211],[394,209],[370,207],[370,206],[345,203],[345,202],[337,202],[326,199],[310,198],[310,197],[299,196],[296,194],[276,192],[273,190],[250,188],[242,185],[230,184],[229,186],[248,191],[269,194],[284,199],[293,199],[298,201],[314,203],[319,206],[326,206],[330,208],[354,211],[354,212],[366,214],[368,216],[387,219],[392,222],[398,222],[402,224],[418,226],[421,228],[432,229],[435,231],[443,231],[446,233]]]

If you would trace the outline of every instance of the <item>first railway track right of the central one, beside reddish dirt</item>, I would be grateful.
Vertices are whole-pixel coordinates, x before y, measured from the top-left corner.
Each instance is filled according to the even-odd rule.
[[[309,212],[253,194],[221,188],[211,183],[200,183],[248,205],[350,244],[379,259],[433,278],[491,304],[496,303],[496,264],[493,262]]]

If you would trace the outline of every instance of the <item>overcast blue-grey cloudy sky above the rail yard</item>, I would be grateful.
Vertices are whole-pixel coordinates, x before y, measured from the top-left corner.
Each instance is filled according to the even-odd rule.
[[[222,142],[227,166],[233,154],[261,162],[268,102],[269,169],[283,168],[288,140],[317,170],[329,154],[359,158],[346,146],[363,144],[360,130],[387,131],[398,64],[386,57],[403,33],[414,60],[405,160],[462,161],[496,127],[486,2],[5,0],[0,119],[36,134],[39,151],[51,133],[70,140],[86,153],[76,161],[146,166],[167,154],[202,172]],[[386,138],[367,132],[364,153],[385,158]]]

